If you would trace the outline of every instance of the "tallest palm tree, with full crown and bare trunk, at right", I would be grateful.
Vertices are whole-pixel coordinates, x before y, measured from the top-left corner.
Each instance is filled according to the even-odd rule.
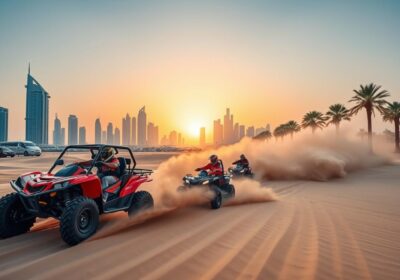
[[[387,104],[385,98],[390,94],[386,90],[381,90],[381,86],[377,86],[374,83],[360,85],[360,89],[353,91],[355,95],[350,99],[350,102],[355,102],[356,105],[350,109],[350,114],[357,114],[361,109],[365,108],[368,121],[368,143],[372,152],[372,114],[375,115],[375,109],[383,113]]]

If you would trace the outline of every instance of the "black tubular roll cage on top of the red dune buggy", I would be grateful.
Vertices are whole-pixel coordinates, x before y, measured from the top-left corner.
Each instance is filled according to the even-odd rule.
[[[152,173],[153,170],[150,169],[139,169],[135,168],[136,167],[136,160],[135,157],[133,156],[132,150],[129,147],[124,147],[124,146],[118,146],[118,145],[105,145],[105,144],[92,144],[92,145],[69,145],[64,148],[64,150],[61,152],[61,154],[58,156],[58,158],[54,161],[53,165],[51,166],[50,170],[48,173],[51,173],[53,169],[58,165],[57,162],[64,156],[64,154],[68,150],[90,150],[90,153],[92,154],[92,164],[90,168],[87,170],[87,173],[90,173],[92,168],[95,166],[95,163],[100,161],[100,155],[102,154],[102,151],[106,148],[114,148],[116,154],[118,154],[118,150],[126,150],[129,152],[129,155],[131,156],[130,160],[133,163],[132,168],[129,170],[130,174],[148,174]],[[94,153],[94,151],[97,150],[97,153]],[[128,163],[130,165],[130,163]]]

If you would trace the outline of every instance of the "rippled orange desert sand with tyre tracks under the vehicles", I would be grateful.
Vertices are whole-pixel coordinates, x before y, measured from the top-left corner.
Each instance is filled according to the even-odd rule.
[[[55,156],[0,159],[1,194],[10,179],[47,170]],[[155,169],[170,156],[138,157]],[[134,222],[103,216],[98,233],[75,247],[61,240],[57,221],[41,220],[0,240],[0,278],[399,279],[400,165],[338,177],[262,181],[276,200],[219,210],[186,205]]]

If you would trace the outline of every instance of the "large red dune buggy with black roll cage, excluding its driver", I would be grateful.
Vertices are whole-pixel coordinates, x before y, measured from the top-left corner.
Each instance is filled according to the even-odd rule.
[[[101,165],[100,155],[110,147],[117,155],[125,151],[130,157],[118,157],[118,180],[103,189],[99,175],[92,169]],[[63,155],[76,150],[90,151],[91,165],[73,163],[53,174],[56,166],[64,165]],[[0,238],[28,232],[38,217],[53,217],[60,221],[62,239],[72,246],[96,232],[101,214],[126,211],[132,216],[152,208],[150,193],[137,191],[141,184],[151,181],[152,170],[135,167],[128,147],[67,146],[48,172],[30,172],[10,182],[15,192],[0,198]]]

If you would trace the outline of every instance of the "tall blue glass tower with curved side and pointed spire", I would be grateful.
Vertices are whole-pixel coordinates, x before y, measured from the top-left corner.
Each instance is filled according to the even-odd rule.
[[[26,140],[37,144],[48,144],[49,98],[47,91],[31,76],[29,67],[26,82]]]

